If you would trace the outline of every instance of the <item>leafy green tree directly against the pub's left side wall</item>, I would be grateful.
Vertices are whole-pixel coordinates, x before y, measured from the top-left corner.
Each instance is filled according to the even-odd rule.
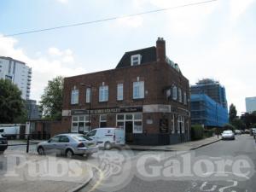
[[[41,96],[40,108],[42,109],[44,119],[61,119],[62,111],[62,93],[63,78],[61,76],[49,80],[44,88],[44,94]]]

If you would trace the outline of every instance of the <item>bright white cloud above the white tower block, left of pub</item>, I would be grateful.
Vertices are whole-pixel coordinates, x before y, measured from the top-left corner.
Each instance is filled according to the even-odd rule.
[[[35,52],[34,58],[17,45],[18,41],[15,38],[3,38],[0,35],[0,55],[24,61],[27,66],[32,67],[32,99],[39,100],[48,81],[58,75],[68,77],[85,73],[84,68],[75,62],[71,49],[61,51],[52,47],[45,55],[42,52]]]

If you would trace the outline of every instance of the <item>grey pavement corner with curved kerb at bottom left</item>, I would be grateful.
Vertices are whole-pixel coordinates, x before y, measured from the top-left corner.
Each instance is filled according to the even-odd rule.
[[[93,177],[84,160],[11,152],[0,156],[0,172],[5,191],[76,191]]]

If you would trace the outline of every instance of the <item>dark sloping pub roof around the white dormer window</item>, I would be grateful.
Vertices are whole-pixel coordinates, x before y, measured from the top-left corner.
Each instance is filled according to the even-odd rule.
[[[145,49],[138,49],[138,50],[125,52],[125,55],[123,55],[123,57],[119,61],[119,64],[117,65],[116,68],[131,67],[131,55],[137,55],[137,54],[142,55],[141,65],[143,65],[143,63],[156,61],[156,48],[148,47]]]

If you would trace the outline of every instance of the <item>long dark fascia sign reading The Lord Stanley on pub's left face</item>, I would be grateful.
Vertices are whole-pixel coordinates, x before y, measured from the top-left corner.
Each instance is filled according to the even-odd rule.
[[[74,109],[71,115],[143,112],[143,107]]]

